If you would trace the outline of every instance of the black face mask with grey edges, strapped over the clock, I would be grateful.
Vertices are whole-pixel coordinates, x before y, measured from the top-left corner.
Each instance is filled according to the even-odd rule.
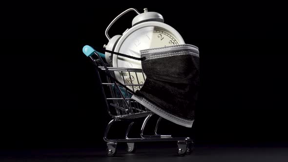
[[[105,50],[107,51],[107,50]],[[160,117],[185,127],[192,127],[199,91],[199,50],[183,44],[140,51],[146,76],[143,87],[131,97]]]

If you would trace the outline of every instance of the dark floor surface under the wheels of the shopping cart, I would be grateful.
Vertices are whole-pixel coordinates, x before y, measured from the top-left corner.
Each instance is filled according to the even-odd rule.
[[[1,151],[1,162],[288,162],[288,147],[195,147],[191,155],[177,156],[176,148],[138,148],[127,154],[119,147],[115,157],[105,149],[49,149]]]

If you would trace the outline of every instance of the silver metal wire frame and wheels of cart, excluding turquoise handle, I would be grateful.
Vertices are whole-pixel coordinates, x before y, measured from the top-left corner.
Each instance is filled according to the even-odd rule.
[[[134,101],[133,99],[128,97],[125,97],[125,92],[123,92],[121,90],[121,85],[120,83],[115,80],[111,80],[113,79],[113,75],[114,73],[111,73],[111,71],[115,72],[115,71],[125,71],[128,72],[128,74],[130,75],[130,72],[135,72],[135,74],[137,75],[137,72],[141,72],[143,73],[142,69],[133,69],[133,68],[120,68],[120,67],[107,67],[108,64],[104,63],[104,61],[102,60],[100,54],[96,51],[93,52],[94,55],[90,55],[88,56],[93,63],[96,65],[96,73],[97,76],[99,78],[99,81],[101,83],[101,90],[103,93],[103,96],[105,98],[105,104],[108,110],[108,114],[112,117],[112,120],[107,124],[107,127],[105,129],[105,133],[104,133],[104,137],[103,140],[105,142],[107,142],[107,149],[106,149],[106,155],[109,157],[115,156],[116,152],[117,152],[117,143],[120,142],[125,142],[127,143],[127,152],[128,153],[134,153],[135,152],[135,142],[164,142],[164,141],[177,141],[177,153],[180,156],[185,156],[187,154],[191,154],[192,150],[193,150],[193,141],[189,138],[189,137],[185,137],[185,138],[175,138],[172,137],[171,135],[158,135],[157,134],[157,130],[158,130],[158,126],[159,123],[162,119],[162,117],[159,117],[158,120],[156,121],[156,126],[153,132],[153,135],[145,135],[144,134],[144,130],[145,127],[147,125],[147,122],[151,119],[152,116],[156,115],[153,112],[151,112],[150,110],[144,108],[143,112],[137,112],[137,110],[135,109],[135,107],[131,106],[131,101],[133,101],[134,104],[140,104],[137,101]],[[104,71],[106,73],[106,81],[107,82],[103,82],[101,75],[100,75],[100,71]],[[123,73],[122,73],[123,74]],[[144,73],[143,73],[144,74]],[[131,79],[131,76],[130,76]],[[138,78],[137,78],[138,80]],[[125,83],[125,81],[124,81]],[[104,91],[104,86],[109,86],[110,88],[110,93],[111,98],[107,98],[105,95],[105,91]],[[132,85],[132,84],[123,84],[123,85]],[[111,86],[114,86],[115,88],[111,88]],[[142,86],[139,84],[133,84],[133,86]],[[134,89],[133,89],[134,90]],[[118,91],[120,93],[115,93],[115,91]],[[126,90],[127,93],[129,93]],[[116,95],[115,95],[116,94]],[[114,102],[118,102],[118,101],[123,101],[122,107],[116,104],[111,104],[109,105],[110,101],[113,100],[117,100]],[[126,107],[125,107],[126,105]],[[116,110],[117,114],[113,114],[110,110],[110,107],[113,107],[115,109],[119,109],[118,111]],[[134,112],[132,111],[132,109],[135,109]],[[142,109],[141,109],[142,110]],[[122,114],[121,112],[128,112],[128,113],[124,113]],[[136,113],[135,113],[136,111]],[[131,113],[132,112],[132,113]],[[157,115],[156,115],[157,116]],[[140,136],[141,138],[129,138],[128,134],[130,132],[130,128],[132,127],[134,120],[137,118],[145,118],[141,127],[141,132],[140,132]],[[130,121],[130,124],[128,125],[128,128],[126,130],[125,133],[125,138],[123,139],[108,139],[108,132],[111,128],[111,126],[118,122],[118,121]]]

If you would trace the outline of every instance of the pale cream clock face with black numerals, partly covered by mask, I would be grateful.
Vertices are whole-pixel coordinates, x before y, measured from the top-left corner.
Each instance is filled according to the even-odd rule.
[[[175,34],[173,34],[171,31],[173,31],[173,33]],[[175,35],[177,35],[178,38]],[[175,29],[169,31],[165,28],[158,26],[144,26],[124,37],[123,41],[117,44],[119,50],[117,51],[116,49],[115,51],[140,58],[141,57],[140,50],[178,45],[183,43],[184,41],[182,37],[179,35],[178,32],[176,32]],[[113,66],[125,67],[125,68],[137,68],[137,69],[142,68],[141,61],[115,55],[113,56]],[[144,73],[135,73],[135,72],[134,73],[115,72],[115,77],[118,81],[121,81],[123,84],[136,84],[136,85],[143,84],[146,78]],[[127,85],[127,87],[133,91],[136,91],[141,89],[142,86]]]

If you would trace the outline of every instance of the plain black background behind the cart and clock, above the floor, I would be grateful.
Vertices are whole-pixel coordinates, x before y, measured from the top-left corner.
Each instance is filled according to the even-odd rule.
[[[2,5],[1,149],[105,144],[110,117],[82,46],[103,50],[105,28],[130,7],[161,13],[200,50],[201,92],[193,128],[166,123],[163,129],[192,136],[199,145],[288,144],[284,9],[263,3],[118,3]],[[131,27],[134,16],[120,19],[109,35]]]

